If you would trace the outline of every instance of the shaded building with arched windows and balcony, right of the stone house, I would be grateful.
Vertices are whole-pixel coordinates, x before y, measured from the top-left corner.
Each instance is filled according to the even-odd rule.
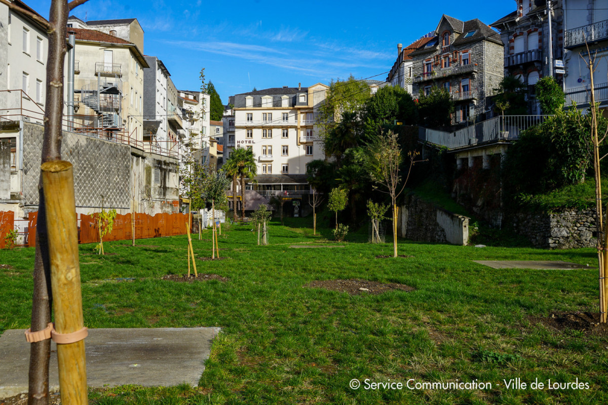
[[[505,44],[505,76],[517,77],[528,86],[548,75],[561,83],[563,70],[556,69],[555,61],[561,61],[564,53],[562,0],[515,2],[514,12],[490,24],[500,30]],[[534,87],[530,87],[529,94],[534,94]],[[533,97],[530,112],[540,114]]]

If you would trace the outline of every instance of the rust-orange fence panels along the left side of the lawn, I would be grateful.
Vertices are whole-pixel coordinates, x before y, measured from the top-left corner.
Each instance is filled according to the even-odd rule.
[[[134,214],[135,239],[151,237],[178,236],[186,233],[188,215],[186,214]],[[104,241],[130,240],[133,238],[131,214],[117,215],[112,232],[103,237]],[[0,248],[7,245],[5,239],[10,231],[17,234],[17,246],[34,247],[36,245],[36,224],[38,212],[29,213],[27,220],[15,220],[13,211],[0,211]],[[78,243],[99,242],[97,214],[78,214]]]

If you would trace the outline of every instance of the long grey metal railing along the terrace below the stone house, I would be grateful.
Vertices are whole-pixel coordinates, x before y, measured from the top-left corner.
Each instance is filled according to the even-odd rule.
[[[522,131],[542,123],[547,117],[550,115],[505,115],[490,118],[454,132],[420,127],[418,137],[422,141],[446,146],[449,149],[500,140],[510,141],[516,140]]]

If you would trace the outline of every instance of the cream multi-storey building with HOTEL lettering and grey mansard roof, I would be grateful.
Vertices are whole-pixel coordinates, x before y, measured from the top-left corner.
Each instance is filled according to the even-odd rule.
[[[258,192],[309,189],[306,165],[324,158],[315,122],[328,88],[322,83],[283,86],[230,97],[235,147],[251,149],[258,166],[256,183],[249,183],[249,188]]]

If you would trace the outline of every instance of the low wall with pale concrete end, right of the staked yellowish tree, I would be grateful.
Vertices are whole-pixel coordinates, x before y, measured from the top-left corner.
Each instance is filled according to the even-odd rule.
[[[469,218],[409,195],[399,209],[397,233],[418,242],[466,245],[469,242]]]

